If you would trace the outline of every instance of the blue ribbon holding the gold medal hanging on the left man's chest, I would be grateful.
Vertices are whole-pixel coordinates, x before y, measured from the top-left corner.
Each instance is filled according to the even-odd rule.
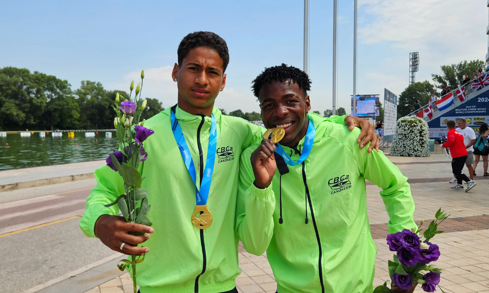
[[[216,145],[217,145],[217,127],[216,127],[216,117],[212,115],[211,132],[209,134],[209,146],[207,148],[207,159],[205,162],[204,173],[202,175],[202,184],[200,185],[200,190],[197,188],[196,180],[196,170],[194,166],[194,161],[192,160],[192,155],[190,154],[190,149],[188,148],[185,137],[183,136],[182,129],[178,124],[178,120],[175,117],[175,113],[171,112],[171,122],[172,122],[172,132],[177,142],[178,149],[182,156],[185,166],[187,167],[188,173],[195,185],[195,201],[197,206],[203,206],[207,204],[207,198],[209,196],[209,189],[211,187],[212,172],[214,171],[214,161],[216,158]],[[189,138],[190,139],[190,138]]]

